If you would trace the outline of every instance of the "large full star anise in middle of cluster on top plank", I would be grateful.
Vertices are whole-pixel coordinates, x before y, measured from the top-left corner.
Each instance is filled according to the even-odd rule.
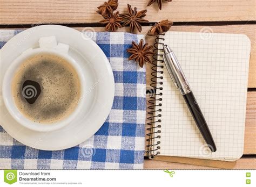
[[[149,22],[148,20],[143,19],[143,17],[146,16],[147,10],[141,10],[137,12],[136,7],[134,7],[134,10],[132,10],[130,4],[127,4],[127,6],[128,14],[120,14],[121,17],[126,19],[122,26],[130,25],[130,32],[133,32],[135,27],[138,29],[139,32],[142,32],[142,25],[140,25],[140,23]]]

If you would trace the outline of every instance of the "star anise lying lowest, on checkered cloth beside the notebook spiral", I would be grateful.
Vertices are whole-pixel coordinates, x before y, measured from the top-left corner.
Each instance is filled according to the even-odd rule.
[[[127,49],[127,52],[131,53],[129,60],[134,59],[135,61],[139,62],[140,67],[143,67],[145,62],[151,63],[149,56],[154,54],[151,52],[153,46],[147,45],[149,44],[146,43],[143,45],[143,39],[139,41],[139,45],[132,41],[132,48]]]

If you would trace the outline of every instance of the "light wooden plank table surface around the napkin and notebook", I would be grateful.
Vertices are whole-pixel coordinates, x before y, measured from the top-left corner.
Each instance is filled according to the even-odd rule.
[[[106,0],[0,0],[0,29],[29,28],[42,24],[61,24],[78,30],[92,27],[95,31],[104,31],[98,22],[102,19],[96,13],[97,6]],[[157,21],[169,19],[174,22],[170,31],[200,32],[210,27],[218,33],[241,33],[251,39],[250,73],[248,80],[245,146],[244,155],[233,163],[233,169],[256,169],[256,37],[255,18],[256,1],[238,0],[172,0],[163,1],[162,10],[157,3],[146,6],[148,0],[119,0],[118,10],[126,12],[127,3],[137,6],[138,10],[147,9],[148,24],[143,26],[142,34]],[[118,32],[129,31],[127,27]],[[147,42],[153,44],[154,38],[147,37]],[[151,64],[147,64],[147,85],[150,84]],[[145,160],[145,169],[213,169],[213,167],[196,166],[183,163]]]

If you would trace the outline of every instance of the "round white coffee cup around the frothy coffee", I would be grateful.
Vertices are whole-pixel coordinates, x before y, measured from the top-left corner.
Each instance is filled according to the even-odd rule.
[[[14,97],[12,96],[12,80],[14,76],[17,73],[18,68],[21,66],[21,64],[28,59],[30,56],[34,56],[36,54],[40,53],[48,53],[52,55],[57,55],[62,57],[65,61],[71,64],[73,68],[75,68],[77,75],[79,77],[80,81],[80,95],[83,96],[85,93],[85,76],[83,74],[82,68],[79,67],[79,65],[76,63],[76,61],[68,54],[64,53],[63,51],[56,49],[56,48],[35,48],[35,49],[29,49],[25,52],[23,52],[21,55],[19,55],[11,64],[8,70],[5,72],[4,80],[3,80],[3,100],[6,108],[8,109],[11,116],[21,125],[23,125],[26,128],[29,128],[33,131],[41,131],[41,132],[48,132],[48,131],[55,131],[58,130],[69,123],[73,119],[76,118],[79,111],[82,110],[84,105],[84,97],[80,97],[80,99],[77,101],[76,109],[66,118],[59,120],[56,123],[51,124],[43,124],[38,123],[35,121],[32,121],[31,119],[26,118],[21,111],[19,111],[18,107],[15,104]]]

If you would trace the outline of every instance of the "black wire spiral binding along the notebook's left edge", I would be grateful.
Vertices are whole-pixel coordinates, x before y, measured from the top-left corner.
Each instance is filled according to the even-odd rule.
[[[149,100],[149,104],[150,106],[147,107],[147,109],[149,110],[149,112],[147,112],[149,115],[151,115],[150,117],[148,117],[147,119],[150,120],[151,122],[147,123],[147,125],[149,125],[150,127],[147,127],[147,131],[149,131],[150,133],[147,133],[146,135],[149,136],[148,139],[146,139],[147,142],[149,142],[148,145],[146,145],[147,150],[146,150],[146,157],[148,157],[149,159],[153,159],[155,156],[160,154],[160,140],[158,140],[157,142],[154,142],[154,139],[160,139],[160,128],[161,125],[159,123],[161,123],[161,119],[159,119],[159,117],[161,117],[161,114],[159,112],[161,112],[161,109],[158,108],[158,110],[156,110],[156,107],[160,107],[162,104],[159,103],[156,105],[156,101],[159,100],[161,101],[162,98],[158,97],[158,99],[156,98],[156,96],[161,96],[163,95],[163,92],[159,91],[157,93],[157,89],[159,90],[163,90],[163,87],[161,87],[161,85],[163,85],[163,82],[157,82],[158,78],[160,78],[160,80],[163,79],[163,76],[158,76],[159,74],[163,74],[163,71],[159,71],[159,68],[163,69],[163,60],[158,60],[158,57],[161,56],[163,57],[163,55],[158,54],[159,50],[163,50],[163,48],[159,48],[159,46],[164,45],[163,41],[164,38],[160,38],[160,35],[165,35],[165,34],[159,34],[157,35],[155,42],[154,42],[154,55],[153,55],[153,61],[152,61],[152,78],[151,78],[151,88],[153,88],[153,93],[149,96],[150,100]],[[158,112],[158,115],[156,115],[156,112]],[[154,121],[154,119],[158,117],[157,121]]]

